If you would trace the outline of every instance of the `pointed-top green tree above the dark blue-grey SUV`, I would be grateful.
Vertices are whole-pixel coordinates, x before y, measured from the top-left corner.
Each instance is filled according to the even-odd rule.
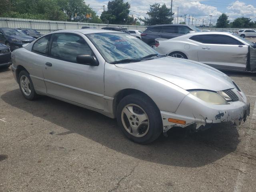
[[[150,10],[147,12],[149,18],[140,19],[145,25],[156,25],[156,24],[172,24],[173,18],[171,15],[171,8],[167,8],[166,4],[160,6],[159,3],[154,3],[150,5]]]

